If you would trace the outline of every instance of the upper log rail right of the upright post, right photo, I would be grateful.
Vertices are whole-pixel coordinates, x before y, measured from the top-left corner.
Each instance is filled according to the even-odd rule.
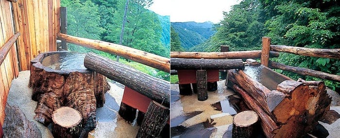
[[[271,51],[288,52],[299,55],[340,59],[340,49],[313,49],[285,45],[271,45]]]

